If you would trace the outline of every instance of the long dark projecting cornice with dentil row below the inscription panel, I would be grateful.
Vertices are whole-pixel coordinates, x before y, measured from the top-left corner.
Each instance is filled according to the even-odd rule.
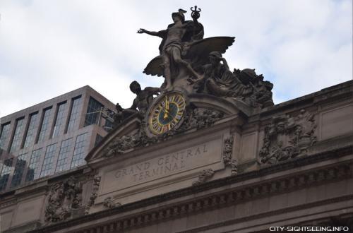
[[[135,203],[121,205],[118,208],[104,210],[98,213],[92,213],[83,217],[77,217],[76,219],[61,222],[56,225],[42,227],[42,229],[37,229],[35,232],[53,232],[55,230],[64,229],[65,227],[73,227],[83,222],[90,222],[91,220],[97,220],[102,217],[124,213],[129,210],[136,210],[137,208],[143,208],[148,205],[162,203],[174,198],[180,198],[190,194],[200,193],[202,191],[238,183],[247,179],[263,177],[265,175],[282,172],[287,169],[302,167],[304,165],[311,165],[316,162],[322,162],[333,158],[337,159],[339,157],[344,157],[345,155],[352,154],[353,146],[350,145],[345,148],[318,153],[309,157],[298,157],[297,159],[289,160],[288,162],[282,162],[277,165],[263,167],[257,171],[238,174],[234,177],[217,179],[215,181],[206,182],[205,184],[201,184],[199,186],[192,186],[186,189],[164,193],[152,198],[146,198]],[[302,189],[307,186],[321,184],[322,182],[334,181],[337,179],[347,179],[352,177],[352,168],[349,166],[350,165],[347,163],[337,163],[335,165],[329,165],[328,167],[321,167],[318,169],[311,169],[306,172],[301,172],[301,174],[291,174],[285,178],[280,177],[270,181],[263,181],[261,184],[241,186],[232,190],[228,189],[222,193],[213,193],[208,196],[193,198],[193,200],[186,201],[184,203],[164,206],[164,208],[160,209],[147,210],[145,213],[140,213],[139,215],[126,216],[121,219],[114,220],[114,222],[104,223],[98,227],[114,230],[119,228],[130,229],[131,227],[139,227],[145,224],[150,224],[151,222],[165,220],[169,217],[177,217],[186,213],[196,213],[197,211],[206,210],[207,208],[219,208],[222,205],[231,205],[232,203],[249,201],[249,199],[269,196],[275,193]]]

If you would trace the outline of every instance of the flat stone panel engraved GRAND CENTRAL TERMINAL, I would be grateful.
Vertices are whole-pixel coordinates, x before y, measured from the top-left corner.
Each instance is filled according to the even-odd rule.
[[[126,167],[106,172],[102,177],[101,194],[119,191],[148,181],[170,177],[222,160],[222,141],[215,139],[190,148],[157,155],[150,160],[141,160]],[[112,185],[117,184],[117,185]]]

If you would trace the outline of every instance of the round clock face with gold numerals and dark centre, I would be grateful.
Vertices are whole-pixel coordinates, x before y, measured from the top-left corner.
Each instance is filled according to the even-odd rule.
[[[150,110],[148,128],[155,135],[161,135],[179,124],[186,102],[179,93],[167,93]]]

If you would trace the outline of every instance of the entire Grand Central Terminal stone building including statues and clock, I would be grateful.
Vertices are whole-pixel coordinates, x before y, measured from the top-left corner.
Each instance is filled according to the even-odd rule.
[[[116,104],[114,129],[62,175],[4,193],[4,232],[268,232],[353,228],[353,81],[274,105],[273,84],[230,71],[234,37],[172,13],[160,55]]]

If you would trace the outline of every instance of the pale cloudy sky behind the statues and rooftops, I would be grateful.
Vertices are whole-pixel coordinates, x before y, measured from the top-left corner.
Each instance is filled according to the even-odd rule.
[[[198,5],[205,37],[235,36],[224,55],[275,84],[275,103],[352,79],[352,0],[0,0],[0,117],[90,85],[129,107],[128,85],[158,54],[171,13]]]

